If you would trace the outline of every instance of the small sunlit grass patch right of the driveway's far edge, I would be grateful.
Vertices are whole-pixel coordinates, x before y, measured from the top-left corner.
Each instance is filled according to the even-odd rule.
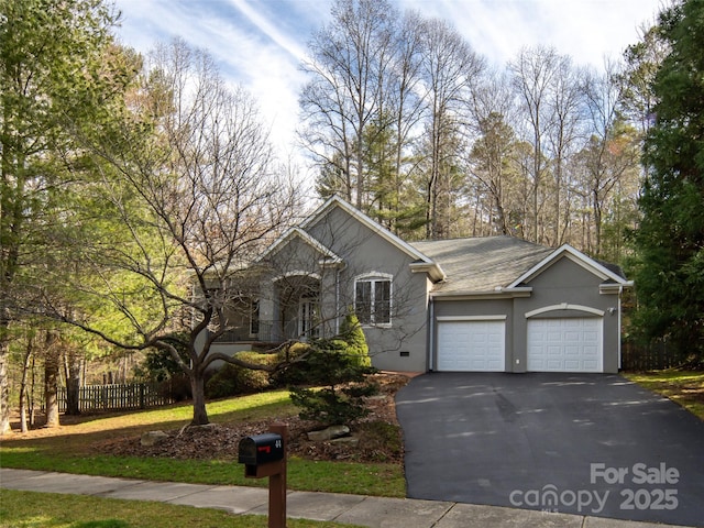
[[[670,398],[704,420],[704,372],[668,369],[624,375],[631,382]]]

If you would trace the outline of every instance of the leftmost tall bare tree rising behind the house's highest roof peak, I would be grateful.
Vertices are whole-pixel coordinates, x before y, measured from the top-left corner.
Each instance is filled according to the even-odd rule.
[[[384,116],[385,84],[393,64],[395,10],[387,1],[337,0],[332,21],[311,41],[302,68],[311,80],[299,103],[306,128],[301,139],[322,166],[343,174],[344,197],[359,209],[367,206],[364,140]]]

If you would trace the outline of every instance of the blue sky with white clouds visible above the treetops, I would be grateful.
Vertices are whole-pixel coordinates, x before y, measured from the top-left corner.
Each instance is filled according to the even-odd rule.
[[[258,101],[283,157],[296,157],[299,65],[332,0],[114,0],[118,37],[139,52],[183,37],[207,50],[228,80]],[[503,67],[525,46],[554,47],[600,68],[638,42],[666,0],[391,0],[400,11],[451,21],[475,53]],[[302,168],[302,167],[301,167]]]

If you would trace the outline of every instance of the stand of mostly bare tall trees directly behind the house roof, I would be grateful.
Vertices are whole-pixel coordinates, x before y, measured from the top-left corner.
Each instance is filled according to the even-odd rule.
[[[336,2],[299,98],[317,191],[407,240],[509,234],[622,262],[668,50],[641,34],[601,70],[548,47],[497,69],[447,21]]]

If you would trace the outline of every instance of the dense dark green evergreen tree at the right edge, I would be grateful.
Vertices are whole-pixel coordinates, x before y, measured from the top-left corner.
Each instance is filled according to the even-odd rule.
[[[657,74],[656,123],[636,233],[636,321],[684,356],[704,359],[704,1],[663,11],[671,52]]]

